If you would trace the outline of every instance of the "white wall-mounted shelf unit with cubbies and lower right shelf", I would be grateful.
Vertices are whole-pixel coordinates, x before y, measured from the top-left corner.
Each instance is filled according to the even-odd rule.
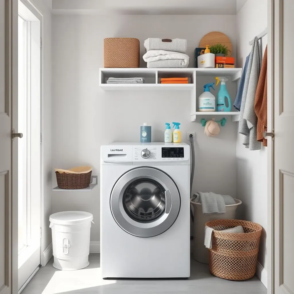
[[[191,94],[191,121],[201,122],[201,118],[225,117],[228,121],[239,121],[238,112],[198,112],[198,96],[196,82],[198,77],[224,76],[228,82],[235,82],[241,78],[242,69],[198,69],[198,68],[101,68],[99,69],[99,87],[104,91],[190,91]],[[109,77],[130,78],[142,77],[143,84],[107,84]],[[161,78],[188,77],[188,84],[161,84]],[[233,101],[232,101],[233,103]]]

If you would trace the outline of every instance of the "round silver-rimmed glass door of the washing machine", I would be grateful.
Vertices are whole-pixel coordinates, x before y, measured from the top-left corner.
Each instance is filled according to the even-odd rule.
[[[168,230],[180,206],[176,183],[158,168],[133,168],[116,181],[111,191],[113,218],[123,230],[138,237],[153,237]]]

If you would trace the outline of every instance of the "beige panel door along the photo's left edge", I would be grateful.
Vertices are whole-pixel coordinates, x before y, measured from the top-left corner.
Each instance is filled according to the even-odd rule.
[[[0,294],[17,293],[17,186],[11,164],[14,156],[17,162],[17,139],[11,140],[15,101],[17,1],[0,0]]]

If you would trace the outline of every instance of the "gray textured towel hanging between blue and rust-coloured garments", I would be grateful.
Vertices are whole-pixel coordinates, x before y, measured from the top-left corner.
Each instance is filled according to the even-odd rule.
[[[257,37],[255,37],[249,56],[239,120],[239,133],[245,135],[243,144],[250,150],[260,150],[261,148],[261,142],[257,141],[257,117],[254,111],[255,91],[261,62],[262,54],[260,45]]]

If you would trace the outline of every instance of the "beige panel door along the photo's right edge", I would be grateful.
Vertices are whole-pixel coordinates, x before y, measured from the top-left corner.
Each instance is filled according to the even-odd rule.
[[[274,285],[294,293],[294,1],[274,0]]]

